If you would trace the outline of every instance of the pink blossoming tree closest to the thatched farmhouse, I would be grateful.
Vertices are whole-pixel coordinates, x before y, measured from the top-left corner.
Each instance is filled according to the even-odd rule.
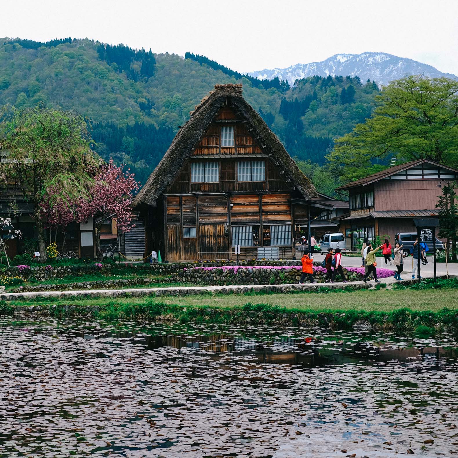
[[[102,260],[100,250],[100,229],[102,224],[109,217],[116,218],[118,229],[129,232],[132,220],[132,199],[133,193],[140,188],[136,182],[135,174],[129,170],[123,171],[123,166],[116,166],[113,159],[108,164],[101,166],[94,177],[93,184],[89,189],[88,200],[82,200],[78,206],[78,221],[87,221],[93,217],[96,221],[96,249],[97,259]]]

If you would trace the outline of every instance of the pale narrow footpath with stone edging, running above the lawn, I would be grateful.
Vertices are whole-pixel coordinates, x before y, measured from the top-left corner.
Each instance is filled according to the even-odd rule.
[[[424,275],[424,278],[431,277],[431,275]],[[409,280],[410,275],[405,275],[404,280]],[[393,277],[382,278],[381,283],[386,283],[387,288],[390,288],[393,283],[396,283]],[[346,286],[358,286],[360,288],[370,288],[376,285],[373,281],[368,281],[365,284],[362,281],[358,282],[336,282],[334,284],[328,283],[306,283],[306,284],[268,284],[268,285],[224,285],[224,286],[189,286],[189,287],[169,287],[169,288],[126,288],[126,289],[83,289],[77,291],[33,291],[24,293],[1,293],[0,300],[33,300],[33,299],[86,299],[97,297],[141,297],[141,296],[186,296],[196,294],[227,294],[229,291],[235,294],[243,294],[251,289],[254,291],[274,291],[274,292],[288,292],[291,290],[302,289],[316,289],[320,286],[328,288],[342,289]]]

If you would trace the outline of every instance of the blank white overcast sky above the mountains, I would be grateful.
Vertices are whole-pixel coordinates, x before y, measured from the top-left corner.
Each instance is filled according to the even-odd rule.
[[[191,51],[238,71],[376,51],[458,75],[458,0],[3,0],[0,36]]]

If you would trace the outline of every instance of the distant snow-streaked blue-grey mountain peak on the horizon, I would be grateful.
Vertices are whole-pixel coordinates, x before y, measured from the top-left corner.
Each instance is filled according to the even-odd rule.
[[[378,85],[384,86],[390,81],[407,75],[425,75],[431,77],[447,76],[458,79],[451,73],[442,73],[431,65],[422,64],[416,60],[405,59],[387,53],[336,54],[322,62],[296,64],[288,68],[252,71],[248,73],[260,79],[272,79],[275,76],[293,84],[295,79],[307,76],[359,76],[362,82],[368,78]]]

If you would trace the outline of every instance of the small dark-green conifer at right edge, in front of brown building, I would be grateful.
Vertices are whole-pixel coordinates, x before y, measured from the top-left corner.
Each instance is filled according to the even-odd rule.
[[[447,253],[448,258],[450,240],[452,240],[452,259],[453,261],[457,260],[457,250],[456,250],[456,235],[458,227],[458,211],[455,204],[456,192],[454,189],[455,183],[442,187],[442,196],[439,196],[437,199],[436,208],[438,208],[439,213],[439,237],[447,239]]]

